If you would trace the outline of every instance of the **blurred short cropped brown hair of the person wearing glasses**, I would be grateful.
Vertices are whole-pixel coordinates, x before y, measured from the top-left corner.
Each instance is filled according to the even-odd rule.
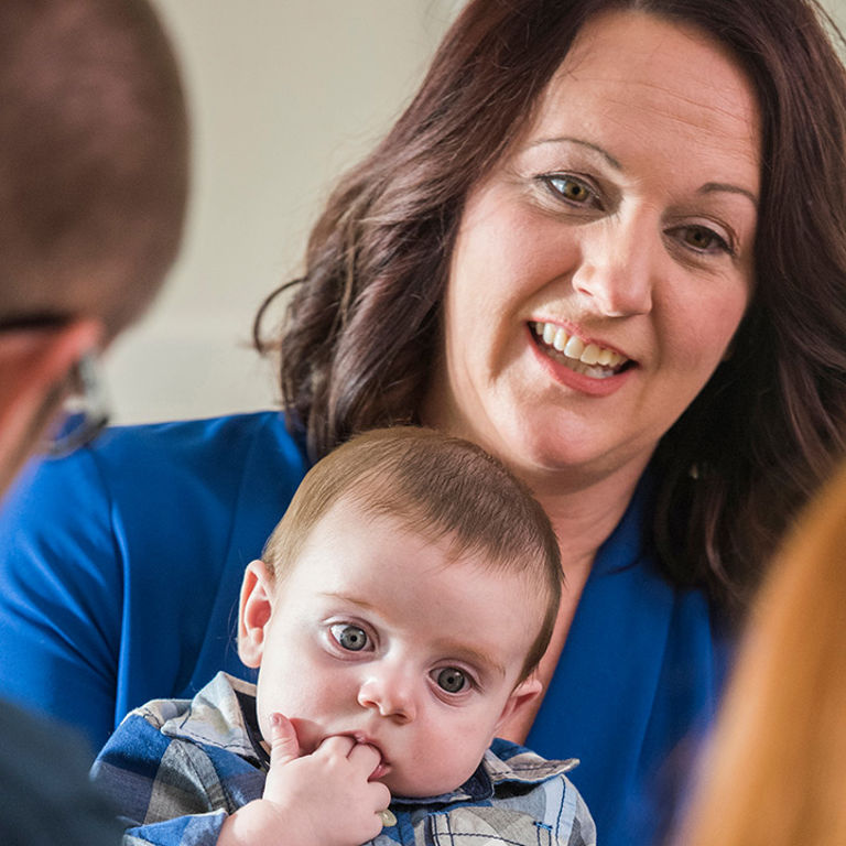
[[[175,258],[188,188],[177,64],[147,0],[0,3],[0,319],[102,319]]]

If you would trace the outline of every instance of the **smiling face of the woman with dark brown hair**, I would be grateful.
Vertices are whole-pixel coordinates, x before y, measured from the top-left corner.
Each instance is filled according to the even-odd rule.
[[[467,198],[424,417],[524,476],[639,474],[749,302],[753,89],[696,30],[616,11],[527,130]]]

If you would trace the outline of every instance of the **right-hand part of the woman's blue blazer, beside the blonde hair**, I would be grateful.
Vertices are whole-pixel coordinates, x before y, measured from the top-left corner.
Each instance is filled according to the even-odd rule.
[[[662,579],[642,551],[641,482],[599,550],[527,746],[582,760],[571,778],[608,846],[655,843],[713,718],[726,643],[704,595]],[[679,776],[670,778],[668,776]]]

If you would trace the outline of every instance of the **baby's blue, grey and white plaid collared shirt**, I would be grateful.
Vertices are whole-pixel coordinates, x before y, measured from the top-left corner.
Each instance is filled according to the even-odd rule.
[[[91,770],[127,826],[124,846],[215,844],[227,814],[262,795],[269,758],[259,737],[254,685],[226,673],[193,699],[156,699],[127,715]],[[594,821],[564,776],[575,766],[495,740],[458,790],[394,796],[395,822],[371,843],[594,846]]]

